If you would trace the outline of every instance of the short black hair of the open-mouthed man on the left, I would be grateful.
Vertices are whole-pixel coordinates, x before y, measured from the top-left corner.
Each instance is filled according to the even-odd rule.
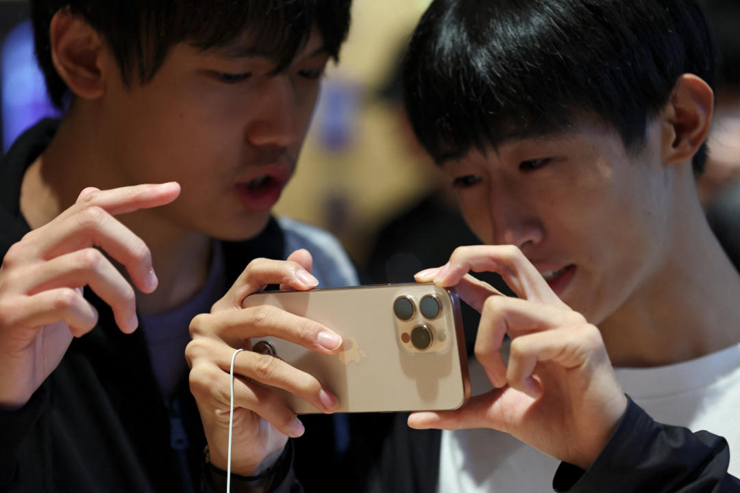
[[[209,50],[250,35],[279,72],[315,26],[336,60],[349,31],[351,0],[31,0],[30,7],[36,58],[61,108],[69,88],[54,68],[49,38],[58,10],[69,9],[102,35],[129,85],[133,76],[141,84],[151,81],[167,52],[183,41]]]

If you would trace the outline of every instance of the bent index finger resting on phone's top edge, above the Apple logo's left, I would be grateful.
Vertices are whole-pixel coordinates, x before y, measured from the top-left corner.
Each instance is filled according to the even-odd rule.
[[[305,291],[315,288],[318,283],[309,271],[296,262],[254,259],[213,308],[214,311],[240,308],[246,296],[262,290],[269,284],[288,285],[295,290]]]

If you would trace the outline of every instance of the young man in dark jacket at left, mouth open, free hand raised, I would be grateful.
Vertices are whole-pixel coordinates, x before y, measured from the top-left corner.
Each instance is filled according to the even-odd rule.
[[[225,312],[209,326],[218,330],[232,321],[234,293],[356,282],[332,237],[270,215],[349,8],[31,1],[38,60],[66,112],[0,163],[2,491],[187,492],[223,481],[218,454],[203,455],[221,440],[220,416],[201,420],[189,392],[192,317]],[[340,344],[285,322],[283,334],[329,352]],[[313,390],[331,409],[332,396]],[[288,424],[300,434],[295,417]],[[263,488],[270,472],[239,486]]]

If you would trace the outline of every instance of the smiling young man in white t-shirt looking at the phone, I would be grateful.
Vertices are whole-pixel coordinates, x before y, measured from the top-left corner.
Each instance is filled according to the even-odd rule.
[[[714,56],[691,0],[431,3],[406,108],[487,245],[417,281],[482,313],[474,397],[404,419],[380,491],[740,491],[740,276],[696,194]]]

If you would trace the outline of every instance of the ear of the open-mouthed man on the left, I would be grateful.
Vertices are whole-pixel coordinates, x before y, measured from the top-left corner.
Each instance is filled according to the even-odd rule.
[[[53,16],[49,27],[51,56],[59,77],[75,96],[99,98],[104,92],[101,36],[68,8]]]

